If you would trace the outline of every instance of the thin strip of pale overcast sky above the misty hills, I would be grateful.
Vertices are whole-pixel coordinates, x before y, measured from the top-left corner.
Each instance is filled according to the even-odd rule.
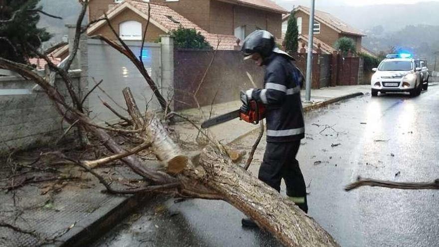
[[[275,0],[277,3],[291,2],[291,4],[304,4],[305,2],[310,2],[311,0]],[[316,4],[319,5],[351,5],[351,6],[363,6],[363,5],[373,5],[373,4],[413,4],[422,1],[436,1],[439,0],[316,0]],[[306,5],[309,5],[306,4]]]

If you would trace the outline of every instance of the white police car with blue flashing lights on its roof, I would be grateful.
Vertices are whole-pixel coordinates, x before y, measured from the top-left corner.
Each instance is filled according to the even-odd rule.
[[[372,96],[378,92],[408,92],[418,96],[422,91],[422,68],[417,67],[411,54],[389,54],[378,68],[372,69]]]

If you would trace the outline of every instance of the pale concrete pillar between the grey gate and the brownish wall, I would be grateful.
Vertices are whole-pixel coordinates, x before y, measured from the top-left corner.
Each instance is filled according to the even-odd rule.
[[[161,91],[163,97],[171,103],[171,99],[174,97],[174,37],[170,35],[162,35],[161,41],[161,74],[162,85]],[[171,110],[174,110],[174,103],[171,103]]]

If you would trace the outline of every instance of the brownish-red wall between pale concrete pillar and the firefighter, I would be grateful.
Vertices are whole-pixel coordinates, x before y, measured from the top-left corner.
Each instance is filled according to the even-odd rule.
[[[193,94],[212,59],[212,50],[175,50],[174,85],[175,109],[197,107]],[[219,50],[209,69],[206,79],[198,94],[200,105],[239,100],[239,91],[252,88],[246,75],[248,71],[258,84],[263,85],[263,68],[257,67],[250,60],[244,61],[242,54],[234,50]]]

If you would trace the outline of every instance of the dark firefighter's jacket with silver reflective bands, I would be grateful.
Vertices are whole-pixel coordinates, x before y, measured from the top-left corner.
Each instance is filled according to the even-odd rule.
[[[291,142],[305,136],[300,86],[302,73],[291,60],[273,53],[264,60],[264,89],[251,98],[266,106],[267,142]]]

